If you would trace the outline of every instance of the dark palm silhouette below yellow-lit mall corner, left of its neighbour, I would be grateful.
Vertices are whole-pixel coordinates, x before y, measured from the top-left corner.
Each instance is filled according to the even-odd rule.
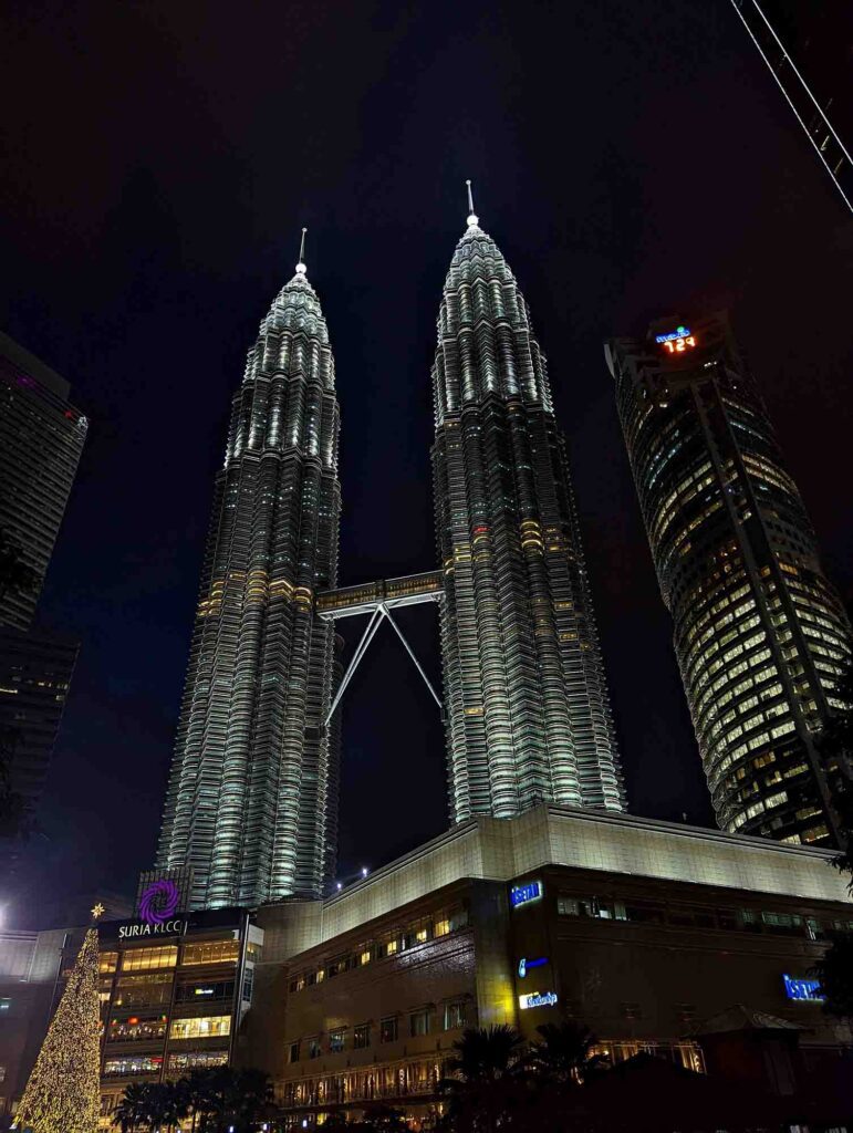
[[[453,1076],[438,1083],[449,1102],[451,1128],[495,1133],[512,1123],[526,1092],[522,1048],[519,1032],[505,1024],[462,1032],[446,1064]]]

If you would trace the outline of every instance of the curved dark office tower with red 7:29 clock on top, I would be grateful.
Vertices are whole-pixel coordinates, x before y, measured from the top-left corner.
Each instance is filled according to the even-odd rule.
[[[831,844],[816,739],[850,625],[727,316],[605,352],[719,825]]]

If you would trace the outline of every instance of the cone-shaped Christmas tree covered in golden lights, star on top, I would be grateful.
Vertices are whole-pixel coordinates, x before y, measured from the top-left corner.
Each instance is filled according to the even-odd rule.
[[[22,1133],[95,1133],[100,1047],[97,930],[91,928],[29,1075],[16,1128]]]

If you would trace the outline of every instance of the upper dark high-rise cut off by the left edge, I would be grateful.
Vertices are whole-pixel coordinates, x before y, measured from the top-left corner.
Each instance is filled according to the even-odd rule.
[[[68,494],[86,440],[71,387],[17,342],[0,334],[0,529],[34,585],[0,589],[0,625],[33,620]]]

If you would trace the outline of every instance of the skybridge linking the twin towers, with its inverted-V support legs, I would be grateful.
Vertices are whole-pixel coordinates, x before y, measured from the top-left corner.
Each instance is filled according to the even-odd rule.
[[[403,644],[403,648],[411,657],[416,668],[424,678],[424,683],[429,689],[433,699],[438,705],[438,710],[443,712],[444,706],[438,693],[424,672],[424,668],[415,656],[411,646],[403,637],[403,632],[391,616],[392,610],[401,606],[416,606],[425,602],[441,602],[444,597],[444,586],[441,571],[427,571],[423,574],[406,574],[402,578],[378,579],[375,582],[364,582],[361,586],[344,586],[336,590],[321,590],[316,598],[316,612],[325,621],[338,621],[339,617],[355,617],[358,614],[369,614],[370,620],[367,629],[361,634],[356,651],[352,654],[347,672],[338,685],[332,704],[329,708],[325,723],[329,724],[334,715],[341,697],[347,691],[347,685],[352,680],[352,674],[359,666],[361,658],[367,651],[370,642],[376,636],[376,630],[383,621],[387,621],[391,628]]]

